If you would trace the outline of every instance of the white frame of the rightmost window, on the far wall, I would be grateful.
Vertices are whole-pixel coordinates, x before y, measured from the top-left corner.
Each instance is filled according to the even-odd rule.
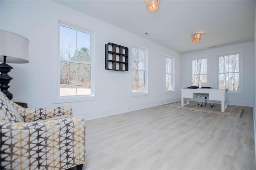
[[[244,71],[244,67],[243,67],[243,50],[240,50],[238,52],[234,52],[234,53],[226,53],[226,54],[222,54],[222,55],[217,55],[217,87],[219,88],[219,57],[221,56],[226,56],[226,55],[234,55],[234,54],[238,54],[239,55],[239,91],[229,91],[228,90],[228,94],[234,94],[234,95],[242,95],[243,94],[243,90],[244,90],[244,86],[243,86],[243,82],[244,82],[244,78],[243,78],[243,71]]]

